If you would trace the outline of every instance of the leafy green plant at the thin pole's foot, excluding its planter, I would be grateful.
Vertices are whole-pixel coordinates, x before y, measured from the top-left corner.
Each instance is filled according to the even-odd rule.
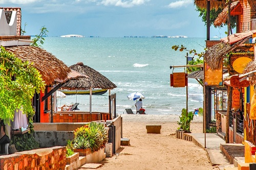
[[[185,131],[185,132],[190,132],[190,122],[193,120],[194,114],[193,112],[188,112],[185,108],[182,109],[181,116],[180,117],[180,122],[177,122],[180,127],[178,130]]]

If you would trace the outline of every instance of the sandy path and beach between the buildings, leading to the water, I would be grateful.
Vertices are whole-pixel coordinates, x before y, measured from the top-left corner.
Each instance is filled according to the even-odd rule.
[[[130,146],[121,146],[98,169],[219,169],[211,166],[206,152],[191,141],[176,139],[179,115],[121,114],[123,138]],[[147,134],[146,125],[161,125],[161,134]],[[202,133],[202,117],[194,117],[192,133]]]

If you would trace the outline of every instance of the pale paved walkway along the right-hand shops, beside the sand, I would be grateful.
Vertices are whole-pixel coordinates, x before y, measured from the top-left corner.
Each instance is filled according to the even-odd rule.
[[[207,152],[207,156],[213,166],[219,165],[220,169],[233,167],[233,164],[229,163],[226,156],[220,150],[220,144],[226,143],[220,136],[214,133],[191,133],[189,135],[193,137],[194,143]]]

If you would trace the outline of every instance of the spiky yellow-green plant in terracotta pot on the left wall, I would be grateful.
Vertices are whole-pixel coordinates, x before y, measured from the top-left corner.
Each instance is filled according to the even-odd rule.
[[[73,148],[80,156],[86,156],[92,152],[104,148],[108,142],[108,132],[103,124],[91,122],[74,131]]]

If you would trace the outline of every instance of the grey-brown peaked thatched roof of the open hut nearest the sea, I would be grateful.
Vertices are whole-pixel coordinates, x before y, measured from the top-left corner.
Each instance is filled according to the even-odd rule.
[[[61,88],[63,89],[90,89],[90,88],[102,88],[102,89],[114,89],[117,86],[112,83],[108,78],[101,75],[95,69],[83,65],[82,62],[71,65],[71,69],[78,71],[80,74],[85,75],[86,78],[79,78],[78,80],[70,80],[65,83]]]

